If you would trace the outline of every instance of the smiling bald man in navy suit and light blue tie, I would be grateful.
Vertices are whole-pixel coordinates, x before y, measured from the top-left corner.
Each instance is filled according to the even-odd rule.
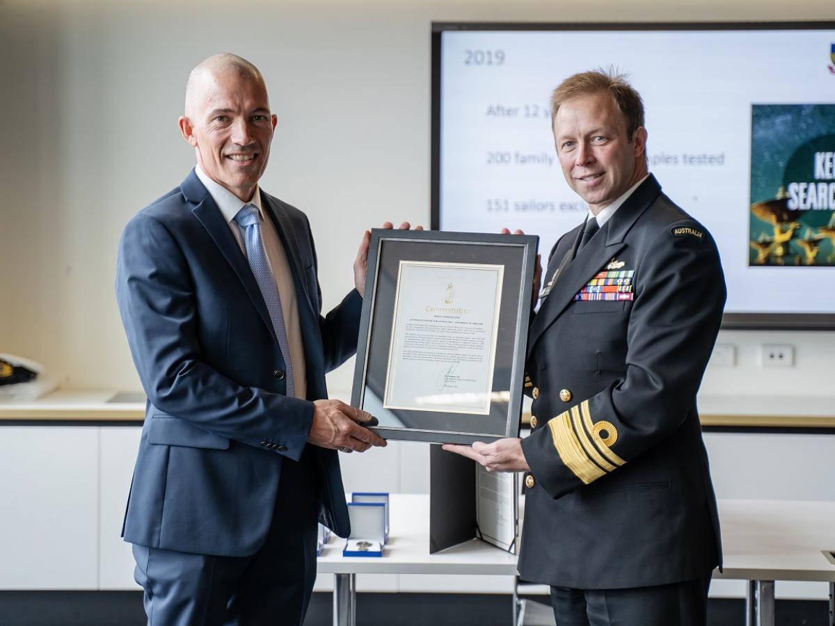
[[[317,520],[350,532],[337,450],[385,445],[366,412],[326,399],[357,348],[369,235],[356,289],[322,316],[307,217],[258,186],[276,128],[261,73],[206,59],[179,124],[195,169],[119,243],[148,396],[123,534],[149,623],[300,626]]]

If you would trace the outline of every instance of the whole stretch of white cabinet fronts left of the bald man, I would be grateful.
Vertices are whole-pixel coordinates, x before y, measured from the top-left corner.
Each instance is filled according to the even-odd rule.
[[[122,517],[141,427],[0,427],[0,589],[138,589]]]

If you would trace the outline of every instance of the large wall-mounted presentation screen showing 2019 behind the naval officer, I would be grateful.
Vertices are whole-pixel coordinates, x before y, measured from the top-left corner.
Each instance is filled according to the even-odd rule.
[[[433,228],[539,235],[588,206],[549,98],[615,68],[665,194],[716,239],[726,328],[835,328],[835,23],[433,24]]]

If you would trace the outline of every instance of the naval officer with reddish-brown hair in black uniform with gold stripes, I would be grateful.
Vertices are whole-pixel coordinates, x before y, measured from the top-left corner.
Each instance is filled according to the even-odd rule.
[[[521,578],[568,626],[706,623],[719,519],[696,392],[725,280],[710,233],[648,173],[640,94],[602,71],[552,97],[566,181],[589,204],[530,326],[531,434],[445,446],[524,471]]]

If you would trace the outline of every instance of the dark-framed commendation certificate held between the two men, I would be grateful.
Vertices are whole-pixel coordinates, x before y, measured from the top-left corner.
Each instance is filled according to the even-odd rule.
[[[519,434],[537,237],[372,230],[352,404],[387,439]]]

